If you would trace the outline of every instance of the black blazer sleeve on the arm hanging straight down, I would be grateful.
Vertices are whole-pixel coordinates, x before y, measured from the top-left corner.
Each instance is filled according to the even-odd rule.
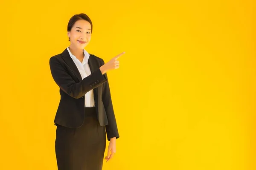
[[[104,65],[103,61],[103,65]],[[111,93],[110,93],[110,88],[109,88],[109,83],[108,83],[108,76],[107,73],[104,74],[107,82],[103,84],[103,93],[102,93],[102,101],[103,105],[108,117],[108,125],[106,125],[106,132],[107,132],[107,138],[108,141],[110,141],[111,138],[116,137],[116,139],[119,138],[119,133],[116,125],[116,118],[115,114],[113,111],[113,105],[112,105],[112,99],[111,99]]]

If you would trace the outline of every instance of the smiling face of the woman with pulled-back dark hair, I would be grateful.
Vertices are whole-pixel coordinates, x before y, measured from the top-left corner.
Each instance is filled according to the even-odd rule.
[[[78,20],[67,35],[70,37],[70,46],[83,49],[90,42],[91,25],[86,20]]]

